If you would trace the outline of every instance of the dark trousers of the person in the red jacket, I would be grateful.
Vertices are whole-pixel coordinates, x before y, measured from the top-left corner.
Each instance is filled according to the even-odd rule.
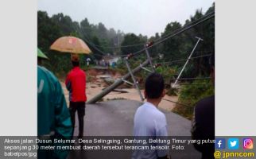
[[[85,102],[70,102],[69,103],[69,112],[71,116],[73,131],[72,135],[74,135],[74,129],[76,124],[76,111],[78,114],[78,122],[79,122],[79,137],[83,137],[83,116],[85,115]]]

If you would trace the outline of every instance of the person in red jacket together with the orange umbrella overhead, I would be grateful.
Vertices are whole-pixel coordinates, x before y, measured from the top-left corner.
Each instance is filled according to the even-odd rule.
[[[69,91],[69,112],[72,119],[72,135],[74,135],[76,111],[79,121],[78,137],[83,137],[83,117],[85,115],[86,96],[86,74],[80,68],[78,53],[89,54],[91,49],[78,37],[60,37],[50,47],[60,52],[72,52],[72,70],[68,73],[65,84]]]

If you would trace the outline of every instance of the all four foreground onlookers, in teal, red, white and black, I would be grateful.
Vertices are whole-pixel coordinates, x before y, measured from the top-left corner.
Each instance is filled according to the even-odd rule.
[[[64,98],[64,92],[56,76],[47,68],[40,66],[43,58],[37,55],[37,134],[38,138],[52,136],[54,138],[83,138],[83,118],[86,110],[86,73],[80,68],[80,59],[72,54],[72,70],[68,73],[65,85],[69,91],[69,107]],[[214,83],[214,56],[211,57],[211,77]],[[167,122],[165,114],[158,110],[161,99],[165,96],[165,81],[159,73],[150,74],[145,80],[146,102],[138,107],[134,115],[134,138],[150,136],[153,138],[167,137]],[[74,134],[76,111],[79,121],[79,134]],[[192,119],[193,139],[215,138],[215,96],[201,99],[195,106]],[[214,158],[214,145],[195,145],[202,153],[202,158]],[[48,155],[48,156],[47,156]],[[41,153],[39,158],[66,158],[65,151],[51,154]],[[164,159],[170,158],[168,150],[150,149],[134,151],[134,159]]]

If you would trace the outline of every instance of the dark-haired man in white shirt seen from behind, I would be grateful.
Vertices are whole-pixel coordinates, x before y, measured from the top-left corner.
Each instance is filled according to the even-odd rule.
[[[165,96],[165,81],[158,73],[150,74],[145,80],[145,102],[138,107],[134,115],[134,138],[142,139],[165,139],[168,136],[165,114],[157,109],[161,98]],[[148,143],[149,144],[149,143]],[[163,146],[166,144],[153,143],[153,146]],[[149,146],[150,147],[150,146]],[[135,150],[134,159],[159,159],[168,158],[167,149],[147,149]]]

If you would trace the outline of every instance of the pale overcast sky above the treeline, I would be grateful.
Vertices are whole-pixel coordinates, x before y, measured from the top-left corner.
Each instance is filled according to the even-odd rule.
[[[205,13],[214,0],[38,0],[38,10],[63,13],[73,21],[87,17],[92,24],[102,22],[107,29],[153,36],[162,33],[171,21],[184,21],[196,9]]]

